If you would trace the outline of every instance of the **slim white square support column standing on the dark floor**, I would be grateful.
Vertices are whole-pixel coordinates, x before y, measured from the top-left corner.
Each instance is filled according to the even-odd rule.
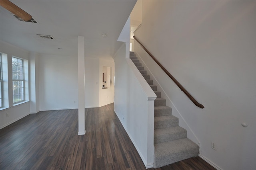
[[[84,68],[84,37],[78,36],[78,135],[85,134]]]

